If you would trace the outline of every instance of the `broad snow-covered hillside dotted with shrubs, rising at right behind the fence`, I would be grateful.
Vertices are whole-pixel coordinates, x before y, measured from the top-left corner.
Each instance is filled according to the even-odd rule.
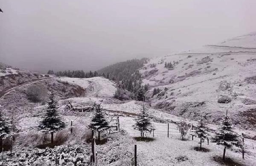
[[[233,40],[237,42],[232,43]],[[191,119],[206,116],[213,122],[228,109],[234,120],[247,121],[240,115],[256,107],[255,40],[256,35],[249,34],[227,40],[229,47],[224,47],[224,43],[207,45],[199,50],[150,59],[140,72],[143,83],[151,87],[147,97],[152,106]],[[165,68],[169,62],[174,68]],[[252,78],[245,80],[247,77]],[[159,88],[160,93],[152,97],[154,88]],[[218,103],[221,95],[230,97],[231,102]]]

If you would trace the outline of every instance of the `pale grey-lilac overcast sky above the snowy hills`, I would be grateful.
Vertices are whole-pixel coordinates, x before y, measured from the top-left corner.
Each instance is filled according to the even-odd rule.
[[[256,31],[256,0],[0,0],[0,62],[96,70]]]

